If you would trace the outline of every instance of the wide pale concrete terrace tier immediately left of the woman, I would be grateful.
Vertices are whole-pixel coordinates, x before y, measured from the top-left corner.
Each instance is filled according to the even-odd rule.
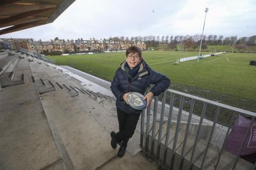
[[[52,70],[52,67],[47,68],[46,64],[38,65],[36,62],[29,62],[29,65],[36,82],[41,78],[42,80],[50,80],[56,85],[56,90],[42,93],[40,97],[54,139],[61,141],[63,144],[63,148],[61,148],[61,146],[58,146],[60,144],[56,143],[57,147],[60,147],[59,150],[63,155],[64,162],[72,162],[73,165],[71,164],[70,167],[74,166],[76,169],[97,169],[97,167],[110,165],[109,162],[111,162],[111,165],[116,161],[122,162],[121,159],[116,157],[116,150],[111,148],[109,142],[105,142],[109,140],[109,131],[106,131],[103,125],[99,124],[91,115],[93,111],[97,112],[95,115],[99,113],[112,114],[106,113],[106,108],[102,108],[99,101],[95,100],[103,101],[109,99],[109,97],[84,89],[76,80]],[[87,105],[90,107],[86,107]],[[93,111],[87,111],[91,108]],[[117,119],[115,118],[115,120]],[[106,124],[109,124],[109,122],[106,122]],[[69,157],[70,160],[65,159],[65,156]],[[141,162],[136,163],[140,165],[139,167],[143,165],[149,167],[146,169],[150,169],[150,167],[156,169],[157,164],[154,164],[154,166],[148,164],[147,160],[143,159],[141,155],[134,159],[127,152],[125,156],[129,157],[126,164],[131,164],[129,162],[134,160],[141,160]],[[105,165],[106,162],[108,164]],[[118,162],[113,169],[124,164]],[[136,164],[133,164],[133,166],[136,166]]]

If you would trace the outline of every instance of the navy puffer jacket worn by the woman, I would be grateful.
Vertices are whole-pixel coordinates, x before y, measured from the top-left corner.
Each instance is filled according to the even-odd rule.
[[[139,92],[144,94],[148,85],[154,84],[150,90],[154,96],[158,96],[170,86],[170,79],[161,73],[157,73],[147,65],[144,60],[140,62],[140,69],[138,73],[129,80],[127,72],[125,72],[125,63],[116,70],[115,76],[111,83],[111,90],[116,97],[116,107],[127,113],[141,113],[141,110],[131,108],[129,104],[125,103],[123,96],[127,92]]]

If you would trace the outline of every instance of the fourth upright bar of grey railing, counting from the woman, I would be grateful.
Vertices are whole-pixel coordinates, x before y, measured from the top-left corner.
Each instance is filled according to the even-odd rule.
[[[158,133],[158,141],[157,141],[157,157],[156,157],[157,160],[159,159],[160,149],[161,149],[161,138],[162,138],[163,122],[164,122],[165,101],[166,101],[166,90],[163,92],[163,99],[162,99],[159,133]]]

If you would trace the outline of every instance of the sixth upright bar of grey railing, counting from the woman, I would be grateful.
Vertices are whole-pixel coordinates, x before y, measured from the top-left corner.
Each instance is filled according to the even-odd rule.
[[[180,131],[180,120],[181,120],[183,105],[184,105],[184,96],[180,96],[179,113],[178,113],[178,117],[177,117],[177,124],[176,124],[174,139],[173,139],[173,147],[172,147],[172,152],[171,152],[172,162],[171,162],[170,169],[173,169],[176,146],[177,146],[177,141],[178,141],[179,131]]]

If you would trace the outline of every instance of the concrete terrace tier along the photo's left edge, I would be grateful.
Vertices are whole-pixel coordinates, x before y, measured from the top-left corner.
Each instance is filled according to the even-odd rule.
[[[29,63],[18,59],[18,55],[2,59],[12,57],[17,57],[17,64],[12,69],[9,66],[1,78],[11,81],[22,75],[26,83],[1,90],[0,169],[65,169],[44,116],[36,84],[31,80]]]

